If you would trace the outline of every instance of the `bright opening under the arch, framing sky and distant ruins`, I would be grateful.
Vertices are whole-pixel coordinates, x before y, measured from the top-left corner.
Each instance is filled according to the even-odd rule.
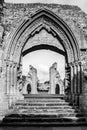
[[[22,86],[23,94],[27,93],[25,91],[27,83],[31,84],[30,94],[56,94],[57,83],[61,87],[59,94],[64,94],[65,57],[49,50],[48,47],[29,52],[22,58],[22,77],[25,77],[25,81],[22,79],[25,82]]]

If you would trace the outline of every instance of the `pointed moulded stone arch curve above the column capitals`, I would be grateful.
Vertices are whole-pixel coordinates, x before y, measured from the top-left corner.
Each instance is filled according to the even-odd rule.
[[[24,20],[11,34],[11,37],[8,37],[4,59],[19,63],[23,47],[27,41],[42,29],[60,41],[69,63],[79,60],[78,43],[70,27],[59,16],[47,9],[38,10],[31,19]],[[29,46],[31,48],[35,45]],[[57,44],[53,46],[58,48]]]

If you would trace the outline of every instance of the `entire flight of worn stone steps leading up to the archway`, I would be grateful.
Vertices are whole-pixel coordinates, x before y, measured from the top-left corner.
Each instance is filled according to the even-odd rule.
[[[28,97],[29,96],[29,97]],[[51,96],[51,97],[50,97]],[[26,95],[24,100],[18,100],[13,111],[8,113],[5,118],[10,122],[85,122],[86,118],[77,106],[73,106],[70,102],[66,102],[66,99],[61,96],[57,97],[50,95],[40,95],[34,97],[34,95]]]

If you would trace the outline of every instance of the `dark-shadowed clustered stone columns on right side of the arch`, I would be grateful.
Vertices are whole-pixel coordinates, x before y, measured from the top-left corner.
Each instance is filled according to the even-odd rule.
[[[81,65],[78,63],[74,63],[70,67],[71,67],[71,79],[72,79],[71,80],[72,101],[76,104],[79,104],[79,94],[81,93],[82,88]]]

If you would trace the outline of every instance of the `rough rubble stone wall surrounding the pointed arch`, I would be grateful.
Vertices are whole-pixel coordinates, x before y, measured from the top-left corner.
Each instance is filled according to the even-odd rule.
[[[85,50],[87,49],[87,15],[77,6],[58,5],[58,4],[7,4],[4,3],[3,11],[0,17],[0,84],[5,86],[4,78],[6,77],[5,68],[6,64],[3,64],[2,54],[6,49],[6,39],[10,36],[11,32],[26,19],[31,19],[32,15],[39,9],[46,8],[51,10],[56,15],[61,17],[67,25],[74,32],[74,35],[78,41],[80,50],[80,60],[83,65],[83,91],[87,91],[87,79],[86,79],[86,58]],[[84,50],[83,50],[84,49]],[[83,50],[83,51],[82,51]],[[3,66],[3,67],[2,67]],[[0,87],[0,91],[5,93],[5,88]],[[85,96],[86,94],[84,94]],[[86,97],[84,102],[86,102]],[[0,98],[2,100],[2,98]]]

